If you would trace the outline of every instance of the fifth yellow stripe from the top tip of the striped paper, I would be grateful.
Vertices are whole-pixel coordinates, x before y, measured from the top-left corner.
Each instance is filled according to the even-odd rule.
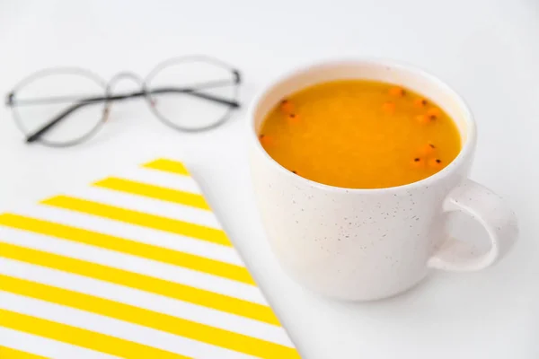
[[[41,250],[31,250],[2,241],[0,241],[0,257],[20,260],[42,267],[50,267],[79,276],[89,276],[116,285],[125,285],[183,302],[202,305],[217,311],[226,311],[245,318],[251,318],[252,320],[261,320],[269,324],[279,325],[275,314],[266,305],[243,301],[188,285],[169,282],[154,276],[144,276],[80,259],[58,256],[57,254]]]

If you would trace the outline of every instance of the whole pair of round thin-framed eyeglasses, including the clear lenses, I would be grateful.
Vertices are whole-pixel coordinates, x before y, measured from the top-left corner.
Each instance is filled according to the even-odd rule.
[[[140,85],[140,91],[113,93],[122,78]],[[217,127],[240,107],[242,78],[232,66],[211,57],[176,57],[164,61],[142,79],[116,74],[106,83],[96,74],[75,67],[43,70],[18,83],[6,105],[27,143],[49,146],[79,144],[107,121],[110,105],[143,97],[155,117],[180,131]]]

